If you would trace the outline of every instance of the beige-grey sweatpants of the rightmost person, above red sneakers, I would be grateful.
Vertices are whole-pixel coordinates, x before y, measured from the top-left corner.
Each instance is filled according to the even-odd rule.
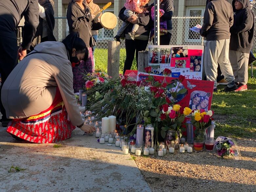
[[[229,60],[235,76],[235,82],[247,84],[249,53],[229,50]]]

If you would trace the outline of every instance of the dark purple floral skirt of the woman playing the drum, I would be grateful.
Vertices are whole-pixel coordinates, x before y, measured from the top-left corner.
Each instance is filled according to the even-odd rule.
[[[84,74],[93,73],[95,70],[94,60],[93,60],[93,51],[91,47],[88,47],[89,56],[86,63],[81,61],[80,65],[74,67],[73,71],[73,89],[74,92],[79,92],[79,89],[83,89],[85,87],[85,81],[83,79]]]

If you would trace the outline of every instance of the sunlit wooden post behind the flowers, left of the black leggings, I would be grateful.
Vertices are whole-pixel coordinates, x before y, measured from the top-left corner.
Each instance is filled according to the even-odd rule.
[[[120,42],[108,42],[108,75],[112,78],[119,77]]]

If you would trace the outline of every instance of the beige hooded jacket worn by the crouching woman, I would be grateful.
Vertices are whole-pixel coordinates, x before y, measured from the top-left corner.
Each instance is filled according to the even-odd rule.
[[[25,118],[48,109],[56,87],[71,123],[81,125],[83,121],[74,96],[73,73],[66,47],[61,42],[46,41],[35,46],[7,77],[1,92],[6,116]]]

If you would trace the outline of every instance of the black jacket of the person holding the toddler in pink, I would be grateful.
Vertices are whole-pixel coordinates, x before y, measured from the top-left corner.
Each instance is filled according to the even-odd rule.
[[[152,28],[152,19],[151,19],[151,6],[147,7],[145,6],[145,8],[149,8],[148,9],[148,13],[145,13],[145,12],[142,12],[142,13],[139,13],[137,16],[137,21],[138,21],[138,25],[139,25],[139,29],[137,30],[136,34],[137,35],[146,35],[146,36],[149,36],[150,34],[150,30]],[[124,10],[125,10],[125,7],[123,7],[119,14],[118,14],[118,17],[119,19],[121,19],[122,21],[124,22],[128,22],[127,19],[128,17],[126,17],[123,13],[124,13]],[[124,33],[125,34],[128,34],[128,32],[131,32],[132,31],[132,28],[133,28],[133,24],[128,22],[129,25],[125,28],[124,30]]]

